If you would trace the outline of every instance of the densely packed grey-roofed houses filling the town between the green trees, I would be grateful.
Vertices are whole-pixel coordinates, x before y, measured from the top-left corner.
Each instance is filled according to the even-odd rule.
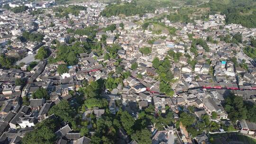
[[[49,2],[51,3],[51,2]],[[17,4],[9,3],[10,7],[16,7]],[[33,8],[37,8],[32,3],[29,4]],[[51,4],[50,4],[51,5]],[[44,3],[41,7],[47,8],[49,4]],[[143,17],[133,16],[120,18],[112,16],[109,18],[100,16],[100,12],[106,7],[106,4],[98,2],[76,3],[75,5],[84,6],[87,9],[81,10],[79,15],[69,14],[69,19],[56,18],[53,9],[44,9],[43,19],[31,16],[29,12],[14,14],[4,10],[0,14],[0,43],[2,45],[1,54],[9,56],[17,56],[22,59],[18,63],[25,63],[18,69],[0,69],[0,143],[19,144],[21,138],[26,132],[32,131],[37,123],[46,118],[55,118],[55,115],[47,115],[49,109],[58,104],[61,100],[71,100],[73,96],[70,91],[77,91],[82,88],[83,81],[97,81],[99,79],[108,79],[109,74],[113,72],[113,77],[119,77],[120,74],[115,73],[117,66],[114,63],[117,59],[104,59],[104,54],[109,54],[105,48],[106,45],[117,44],[122,47],[117,52],[121,58],[119,63],[124,71],[131,73],[128,78],[119,83],[117,88],[106,90],[102,97],[108,100],[109,109],[112,114],[116,114],[119,110],[117,101],[121,100],[122,109],[128,111],[134,118],[137,113],[147,108],[149,105],[155,107],[155,112],[165,113],[165,108],[171,108],[174,112],[174,119],[179,119],[180,107],[195,107],[194,114],[198,119],[202,115],[212,115],[217,113],[215,120],[226,124],[230,121],[228,113],[223,108],[225,103],[224,96],[228,92],[243,97],[244,100],[255,104],[256,100],[256,68],[253,60],[243,54],[241,45],[228,44],[220,41],[218,36],[241,33],[244,41],[249,40],[250,36],[256,35],[255,28],[246,28],[240,25],[225,25],[225,16],[210,15],[209,21],[195,20],[195,23],[179,23],[171,22],[167,18],[159,22],[165,23],[165,26],[176,28],[175,35],[170,35],[169,31],[163,29],[160,34],[152,32],[154,25],[149,24],[146,30],[136,22],[137,20],[145,21],[146,18],[153,18],[157,14],[168,12],[168,9],[156,9],[155,13],[147,13]],[[52,17],[47,17],[51,14]],[[70,23],[73,21],[73,24]],[[53,27],[49,27],[54,24]],[[68,72],[58,73],[58,63],[47,63],[47,60],[39,62],[31,71],[27,67],[41,46],[51,47],[54,40],[58,40],[64,45],[67,44],[72,34],[67,33],[67,29],[82,29],[85,27],[97,25],[99,29],[108,27],[112,24],[116,25],[113,31],[97,31],[96,39],[101,41],[102,36],[107,36],[106,45],[102,46],[102,55],[94,52],[89,54],[79,54],[77,65],[68,66]],[[123,27],[121,26],[123,24]],[[222,26],[224,28],[219,28]],[[209,30],[210,29],[210,30]],[[26,42],[22,43],[17,40],[22,32],[43,33],[42,42]],[[190,51],[192,41],[188,35],[192,34],[192,38],[207,39],[211,36],[218,43],[207,42],[209,51],[205,50],[201,45],[197,45],[197,55]],[[119,35],[117,37],[117,35]],[[87,36],[73,35],[80,42],[86,42]],[[160,37],[165,37],[160,38]],[[149,40],[154,39],[153,44]],[[11,44],[8,44],[8,41]],[[9,45],[11,48],[8,48]],[[142,47],[150,47],[151,54],[142,54],[139,49]],[[56,56],[56,50],[51,49],[53,57]],[[179,61],[171,60],[171,71],[174,75],[172,88],[174,96],[166,96],[160,91],[160,81],[157,79],[158,73],[153,65],[153,60],[158,57],[164,60],[168,51],[174,53],[182,53]],[[236,53],[235,53],[236,51]],[[189,55],[187,57],[186,55]],[[235,66],[230,60],[231,57],[237,57],[238,63],[246,60],[247,69]],[[190,61],[195,60],[195,65],[191,65]],[[210,63],[207,63],[210,60]],[[102,63],[107,63],[103,65]],[[131,69],[132,63],[137,63],[136,70]],[[142,75],[142,78],[138,77]],[[26,80],[24,86],[15,85],[16,79]],[[33,92],[44,88],[50,95],[50,99],[32,99]],[[30,104],[22,105],[23,97],[29,97]],[[73,100],[72,100],[73,101]],[[168,107],[166,107],[168,106]],[[101,117],[105,113],[105,109],[93,108],[87,110],[82,115],[85,120],[88,114],[95,114]],[[256,124],[248,121],[239,121],[238,126],[245,134],[254,135]],[[189,141],[188,136],[181,126],[180,135],[175,139],[180,141]],[[155,131],[152,135],[154,144],[166,142],[170,137],[174,137],[176,129],[172,126],[165,127],[165,131]],[[58,137],[56,144],[89,144],[90,138],[81,136],[80,133],[73,133],[73,130],[65,125],[55,132]],[[126,137],[127,138],[127,137]],[[124,139],[126,139],[124,138]],[[198,135],[196,140],[199,144],[208,142],[205,134]],[[129,142],[128,142],[129,143]],[[128,144],[126,143],[126,144]],[[129,144],[137,144],[132,141]],[[161,143],[162,144],[162,143]],[[166,143],[163,143],[166,144]]]

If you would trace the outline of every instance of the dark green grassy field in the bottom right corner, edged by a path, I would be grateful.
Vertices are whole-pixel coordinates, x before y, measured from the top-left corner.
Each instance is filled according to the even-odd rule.
[[[210,135],[212,144],[256,144],[256,139],[239,133],[225,133]]]

